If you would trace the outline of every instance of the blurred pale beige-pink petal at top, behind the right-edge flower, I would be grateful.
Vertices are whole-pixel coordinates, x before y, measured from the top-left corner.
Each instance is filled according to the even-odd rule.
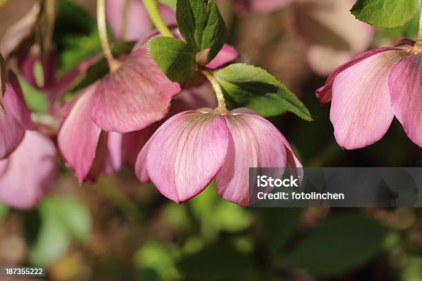
[[[344,0],[297,3],[295,22],[310,66],[317,74],[330,74],[369,47],[375,30],[354,18],[349,12],[352,4]]]

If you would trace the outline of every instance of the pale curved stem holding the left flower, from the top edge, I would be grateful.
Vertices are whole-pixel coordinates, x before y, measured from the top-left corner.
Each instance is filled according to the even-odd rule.
[[[108,62],[110,71],[114,72],[119,68],[119,61],[114,59],[111,52],[110,44],[108,43],[107,37],[107,23],[106,23],[106,0],[97,0],[97,25],[99,31],[99,37],[101,41],[101,48],[103,48],[104,56]]]

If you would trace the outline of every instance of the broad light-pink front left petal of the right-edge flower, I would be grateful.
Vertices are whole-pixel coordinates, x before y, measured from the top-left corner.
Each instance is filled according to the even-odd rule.
[[[394,118],[388,76],[405,52],[390,50],[348,67],[334,79],[330,120],[337,143],[345,149],[372,145]]]

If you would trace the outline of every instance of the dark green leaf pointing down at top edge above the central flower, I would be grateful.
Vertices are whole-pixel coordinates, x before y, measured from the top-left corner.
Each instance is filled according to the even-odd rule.
[[[199,65],[214,59],[227,37],[225,23],[215,1],[177,0],[176,17],[183,38],[199,52]]]

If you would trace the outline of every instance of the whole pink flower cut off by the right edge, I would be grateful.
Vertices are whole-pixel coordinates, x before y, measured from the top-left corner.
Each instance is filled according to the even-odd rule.
[[[379,141],[394,116],[422,147],[422,51],[414,42],[365,52],[338,67],[316,91],[332,101],[330,120],[337,143],[357,149]]]

